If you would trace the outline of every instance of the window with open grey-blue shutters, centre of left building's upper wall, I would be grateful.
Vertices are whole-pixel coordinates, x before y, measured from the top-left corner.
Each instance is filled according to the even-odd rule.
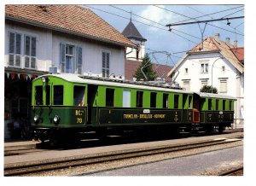
[[[61,44],[61,73],[82,74],[82,48]]]

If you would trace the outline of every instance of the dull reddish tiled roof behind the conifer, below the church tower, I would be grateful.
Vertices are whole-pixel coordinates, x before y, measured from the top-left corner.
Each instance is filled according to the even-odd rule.
[[[125,79],[132,80],[133,75],[136,73],[137,68],[140,67],[141,63],[141,61],[125,60]],[[172,81],[172,78],[167,76],[167,73],[172,70],[172,67],[153,63],[153,70],[155,72],[157,71],[160,74],[161,78],[165,78],[166,81]]]

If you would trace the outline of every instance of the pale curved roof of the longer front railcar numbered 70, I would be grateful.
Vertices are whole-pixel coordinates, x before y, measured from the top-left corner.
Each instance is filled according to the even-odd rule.
[[[133,88],[133,89],[141,89],[141,90],[160,90],[160,91],[169,91],[169,92],[177,92],[177,93],[187,93],[193,94],[192,91],[187,90],[177,90],[172,89],[164,86],[154,86],[153,84],[136,84],[135,82],[125,81],[125,80],[117,80],[117,79],[109,79],[109,78],[99,78],[96,77],[79,77],[78,74],[73,73],[54,73],[54,74],[45,74],[38,78],[46,77],[46,76],[53,76],[56,78],[62,78],[68,82],[79,83],[79,84],[98,84],[98,85],[108,85],[108,86],[115,86],[115,87],[125,87],[125,88]],[[38,79],[36,78],[36,79]],[[36,80],[35,79],[35,80]]]

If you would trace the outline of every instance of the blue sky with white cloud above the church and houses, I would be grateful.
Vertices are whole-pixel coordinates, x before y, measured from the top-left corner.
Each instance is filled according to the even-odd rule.
[[[221,40],[230,38],[231,44],[237,40],[238,46],[244,46],[243,18],[229,20],[230,26],[227,25],[227,20],[212,21],[208,22],[207,25],[200,23],[172,26],[171,32],[166,26],[167,24],[195,22],[197,20],[241,17],[244,16],[244,4],[87,4],[84,7],[91,9],[119,32],[123,32],[131,20],[143,38],[147,39],[146,52],[156,54],[156,60],[161,64],[174,66],[186,51],[201,43],[202,33],[204,39],[214,37],[216,33],[219,33]],[[165,51],[167,55],[166,53],[155,53],[155,51]]]

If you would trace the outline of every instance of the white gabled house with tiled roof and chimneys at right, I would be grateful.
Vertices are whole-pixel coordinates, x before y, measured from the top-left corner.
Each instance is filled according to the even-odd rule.
[[[197,91],[205,84],[218,89],[219,94],[236,97],[236,123],[243,121],[244,108],[244,48],[237,48],[230,38],[223,42],[219,34],[206,38],[187,52],[172,68],[169,76],[186,90]]]

